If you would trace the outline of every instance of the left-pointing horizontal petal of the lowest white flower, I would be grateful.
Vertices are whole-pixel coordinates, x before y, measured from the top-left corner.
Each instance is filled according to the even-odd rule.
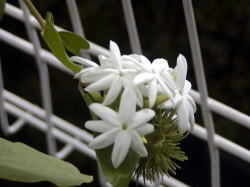
[[[114,128],[114,126],[102,120],[92,120],[85,123],[85,128],[94,132],[104,133]]]

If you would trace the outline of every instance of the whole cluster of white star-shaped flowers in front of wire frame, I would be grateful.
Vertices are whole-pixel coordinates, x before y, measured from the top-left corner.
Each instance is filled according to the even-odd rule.
[[[99,64],[76,56],[71,60],[83,66],[75,77],[84,90],[103,96],[101,103],[89,105],[97,119],[87,121],[85,127],[98,133],[90,147],[103,149],[113,145],[111,160],[115,168],[125,160],[130,148],[140,157],[147,157],[145,137],[157,126],[157,110],[174,111],[172,118],[180,133],[192,129],[196,105],[189,95],[191,83],[186,80],[187,62],[183,55],[171,68],[162,58],[151,63],[143,55],[121,55],[117,44],[111,41],[110,55],[99,56]]]

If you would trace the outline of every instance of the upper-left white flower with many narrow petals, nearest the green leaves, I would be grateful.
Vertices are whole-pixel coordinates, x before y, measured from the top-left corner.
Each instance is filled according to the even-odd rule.
[[[108,90],[103,104],[109,105],[116,100],[122,88],[129,86],[137,95],[138,105],[142,106],[142,94],[132,82],[136,69],[125,67],[128,62],[122,59],[119,47],[115,42],[110,41],[110,56],[99,56],[99,61],[100,66],[89,65],[76,75],[81,82],[88,84],[85,90],[90,93]],[[88,64],[90,63],[88,62]]]

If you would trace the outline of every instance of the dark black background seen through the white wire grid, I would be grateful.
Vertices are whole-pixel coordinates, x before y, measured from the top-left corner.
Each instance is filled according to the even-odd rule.
[[[55,16],[56,24],[71,29],[64,1],[40,0],[34,2],[43,16],[46,11],[51,11]],[[119,44],[122,53],[131,53],[120,1],[78,0],[77,3],[88,40],[105,47],[108,47],[109,40],[114,40]],[[189,62],[188,79],[196,89],[181,1],[133,0],[132,3],[144,55],[151,60],[157,57],[166,58],[170,65],[174,66],[177,55],[184,54]],[[249,114],[250,2],[248,0],[194,0],[193,5],[209,95]],[[13,18],[5,16],[0,26],[27,39],[24,25]],[[39,77],[34,59],[3,43],[1,39],[0,56],[3,61],[5,88],[41,106]],[[77,91],[77,81],[53,67],[49,68],[49,72],[54,113],[83,128],[89,114]],[[199,111],[196,119],[198,123],[202,124]],[[13,122],[14,118],[9,116],[9,120]],[[250,149],[249,129],[216,114],[214,120],[218,134]],[[28,125],[19,133],[7,138],[22,141],[46,152],[45,136]],[[189,136],[183,141],[182,147],[189,160],[180,163],[182,169],[177,171],[176,177],[193,187],[209,187],[210,161],[207,144]],[[220,153],[221,186],[250,186],[249,163],[223,151]],[[96,173],[94,161],[82,154],[74,152],[67,160],[75,164],[82,172]],[[0,186],[52,185],[0,181]],[[98,186],[98,184],[84,186]],[[131,186],[135,186],[135,184],[131,184]]]

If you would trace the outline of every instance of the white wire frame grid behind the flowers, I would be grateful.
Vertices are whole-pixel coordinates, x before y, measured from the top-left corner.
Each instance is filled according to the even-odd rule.
[[[87,144],[93,139],[92,135],[53,114],[50,100],[50,86],[48,84],[49,77],[47,74],[47,64],[54,66],[67,74],[72,75],[72,72],[58,62],[58,60],[50,52],[40,47],[40,41],[36,33],[36,29],[39,29],[40,27],[36,20],[29,14],[21,0],[19,3],[21,8],[7,4],[5,13],[6,15],[24,22],[31,42],[1,28],[0,40],[35,57],[38,70],[40,72],[39,75],[44,108],[40,108],[27,100],[4,90],[3,77],[0,67],[0,115],[2,130],[5,134],[13,134],[17,133],[23,125],[29,124],[47,135],[49,153],[64,159],[73,150],[77,150],[90,158],[95,159],[95,152],[87,146]],[[84,35],[75,0],[66,0],[66,3],[74,32]],[[131,1],[122,0],[122,5],[131,49],[135,53],[142,53]],[[219,187],[220,163],[218,148],[244,160],[247,163],[250,163],[250,151],[222,136],[215,134],[211,111],[248,129],[250,129],[250,117],[208,97],[192,1],[183,0],[183,8],[189,33],[192,57],[195,64],[194,69],[196,72],[196,78],[199,77],[199,79],[197,79],[197,85],[200,93],[192,90],[191,95],[198,104],[201,104],[202,115],[206,127],[203,128],[199,125],[195,125],[192,134],[208,142],[211,160],[211,185],[212,187]],[[62,28],[58,27],[58,29]],[[90,49],[87,51],[87,54],[83,55],[88,58],[88,54],[108,55],[109,52],[105,48],[90,42]],[[6,113],[16,116],[16,122],[9,125]],[[55,144],[56,139],[65,143],[65,147],[62,150],[57,150],[57,146]],[[156,181],[154,184],[146,182],[145,185],[157,186],[158,182],[159,181]],[[188,186],[187,184],[168,176],[163,176],[161,182],[165,185],[173,187]],[[107,186],[105,182],[102,183],[102,185]]]

